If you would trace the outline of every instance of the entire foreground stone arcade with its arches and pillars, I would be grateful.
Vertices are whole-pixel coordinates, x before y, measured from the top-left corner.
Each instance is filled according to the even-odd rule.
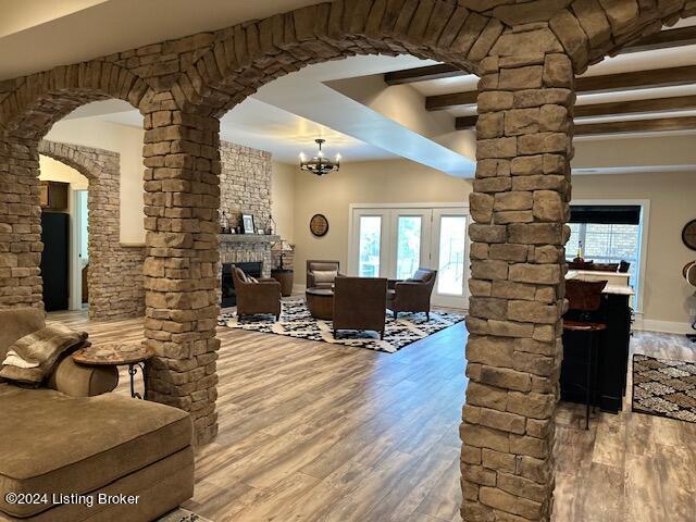
[[[335,0],[0,82],[0,306],[42,306],[39,140],[82,104],[128,101],[146,129],[151,397],[191,412],[209,442],[219,117],[278,76],[356,54],[478,73],[462,514],[549,520],[572,76],[694,14],[696,0]]]

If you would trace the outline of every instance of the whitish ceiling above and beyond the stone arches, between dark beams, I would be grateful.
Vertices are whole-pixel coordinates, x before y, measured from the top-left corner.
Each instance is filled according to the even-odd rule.
[[[2,0],[0,79],[213,30],[312,3],[315,0]],[[107,20],[109,23],[104,23]],[[696,17],[681,21],[678,26],[694,24]],[[295,163],[300,151],[312,154],[314,139],[323,137],[327,139],[326,152],[330,156],[339,152],[344,161],[406,158],[450,174],[471,176],[474,134],[445,133],[443,128],[453,129],[455,117],[474,114],[475,107],[427,113],[424,102],[426,96],[475,89],[477,77],[467,75],[395,87],[381,79],[385,72],[433,63],[413,57],[353,57],[307,67],[272,82],[233,109],[221,121],[221,136],[225,140],[268,150],[277,161],[287,163]],[[586,74],[691,64],[696,64],[696,46],[620,54],[594,65]],[[361,83],[364,83],[363,92],[360,92]],[[685,95],[696,95],[696,85],[583,95],[579,97],[579,103]],[[405,99],[410,101],[405,104]],[[680,111],[668,115],[693,114],[694,111]],[[583,123],[663,115],[666,113],[602,116],[583,119]],[[98,117],[141,126],[141,116],[119,101],[86,105],[69,117]],[[630,140],[622,141],[629,137],[649,136],[655,137],[652,141],[661,142],[671,136],[689,133],[583,136],[577,138],[577,146],[617,139],[616,148],[621,149],[630,146]],[[601,164],[600,167],[620,172],[629,162],[619,157],[621,154],[616,164]],[[655,162],[659,160],[656,158]],[[683,158],[679,161],[692,163]],[[592,169],[592,163],[588,158],[581,169]],[[673,167],[673,163],[664,162],[668,167]]]

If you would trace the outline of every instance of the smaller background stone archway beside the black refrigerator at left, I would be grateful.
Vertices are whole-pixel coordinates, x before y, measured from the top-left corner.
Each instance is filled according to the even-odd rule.
[[[38,151],[75,169],[89,184],[89,319],[141,316],[144,248],[120,240],[120,154],[48,140],[39,142]]]

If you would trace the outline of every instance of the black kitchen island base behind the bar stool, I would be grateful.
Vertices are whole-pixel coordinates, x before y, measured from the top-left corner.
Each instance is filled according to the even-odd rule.
[[[631,339],[630,296],[605,294],[595,318],[607,324],[599,335],[597,347],[597,375],[593,380],[595,406],[602,411],[621,411],[626,387],[629,344]],[[561,399],[585,402],[588,338],[585,332],[563,334],[563,362],[561,364]]]

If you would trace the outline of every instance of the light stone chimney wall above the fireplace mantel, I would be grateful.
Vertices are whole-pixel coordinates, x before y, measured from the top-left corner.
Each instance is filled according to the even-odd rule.
[[[220,160],[220,210],[226,212],[229,224],[241,224],[241,214],[245,213],[253,214],[257,228],[268,228],[271,215],[271,153],[221,141]]]

